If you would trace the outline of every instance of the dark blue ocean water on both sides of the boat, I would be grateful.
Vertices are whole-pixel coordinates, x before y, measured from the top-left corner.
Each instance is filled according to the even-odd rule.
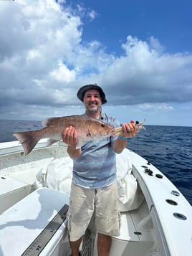
[[[39,121],[0,120],[0,142],[16,141],[12,133],[42,128]],[[192,127],[145,125],[128,148],[153,163],[192,205]]]

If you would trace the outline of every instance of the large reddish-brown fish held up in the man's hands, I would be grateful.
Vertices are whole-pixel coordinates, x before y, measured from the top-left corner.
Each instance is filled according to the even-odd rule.
[[[97,141],[102,138],[115,135],[115,128],[102,120],[87,117],[86,115],[69,115],[63,117],[47,118],[42,122],[45,127],[37,131],[23,131],[13,133],[13,136],[24,148],[27,156],[42,138],[49,138],[47,146],[62,140],[64,128],[75,127],[77,131],[78,144],[80,148],[87,141]]]

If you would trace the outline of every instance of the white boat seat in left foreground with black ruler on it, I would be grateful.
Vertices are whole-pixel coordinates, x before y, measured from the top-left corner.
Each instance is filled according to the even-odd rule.
[[[35,252],[37,245],[39,243],[42,245],[50,232],[54,232],[54,235],[50,237],[48,243],[47,240],[44,242],[41,255],[66,255],[66,250],[69,250],[68,236],[65,232],[67,220],[64,219],[60,210],[63,207],[66,208],[65,204],[68,202],[69,195],[66,193],[42,188],[33,191],[13,207],[7,209],[0,216],[0,255],[18,256],[23,253],[28,255],[29,248]],[[67,209],[64,209],[65,213]],[[60,222],[59,219],[53,220],[57,216],[64,219],[59,227],[55,226]],[[47,226],[50,223],[52,223],[52,227]],[[38,240],[39,234],[43,232],[44,237]],[[34,245],[33,242],[37,240],[38,242]]]

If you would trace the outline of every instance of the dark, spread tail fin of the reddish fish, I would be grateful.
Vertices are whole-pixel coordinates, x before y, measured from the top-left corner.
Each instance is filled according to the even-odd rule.
[[[36,135],[36,131],[13,133],[13,136],[15,136],[17,140],[22,144],[25,156],[27,156],[33,150],[39,141],[39,138]]]

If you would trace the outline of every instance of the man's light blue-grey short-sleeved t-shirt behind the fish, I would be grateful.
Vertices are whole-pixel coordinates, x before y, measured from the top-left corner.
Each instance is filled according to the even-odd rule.
[[[105,123],[117,128],[116,118],[102,114]],[[74,159],[72,181],[87,188],[109,186],[116,179],[116,158],[112,144],[116,137],[102,138],[100,141],[88,141],[82,146],[82,155]]]

